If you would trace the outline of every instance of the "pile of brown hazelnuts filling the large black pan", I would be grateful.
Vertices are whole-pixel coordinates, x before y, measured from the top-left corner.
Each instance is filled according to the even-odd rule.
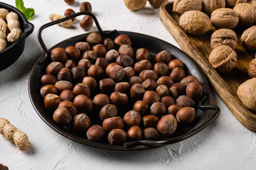
[[[123,144],[171,136],[178,123],[194,120],[203,92],[197,78],[185,77],[183,62],[172,60],[169,51],[159,52],[151,63],[148,50],[135,53],[131,46],[125,34],[113,41],[93,32],[86,42],[52,50],[40,93],[57,124],[90,140],[107,136],[110,144]],[[129,111],[121,114],[124,108]],[[90,117],[100,123],[92,125]]]

